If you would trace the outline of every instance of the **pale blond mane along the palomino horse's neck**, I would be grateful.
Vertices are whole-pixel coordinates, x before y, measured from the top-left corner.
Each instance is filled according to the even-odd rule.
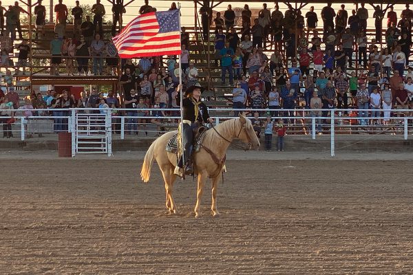
[[[251,123],[251,122],[249,122]],[[214,147],[219,147],[222,143],[226,142],[218,133],[226,137],[227,139],[232,140],[232,135],[228,135],[228,133],[234,133],[235,131],[239,131],[240,127],[240,118],[231,118],[231,120],[225,120],[224,122],[215,126],[214,129],[209,129],[207,133],[205,133],[205,137],[202,143],[213,145]],[[217,133],[218,131],[218,133]]]

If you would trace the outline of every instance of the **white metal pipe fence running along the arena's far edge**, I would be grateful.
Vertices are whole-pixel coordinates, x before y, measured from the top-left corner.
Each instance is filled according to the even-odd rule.
[[[31,110],[32,116],[23,115],[25,110],[21,109],[7,111],[14,115],[0,116],[0,133],[3,137],[19,138],[21,141],[33,135],[47,140],[55,138],[59,132],[69,132],[75,137],[78,131],[75,126],[77,114],[89,115],[93,122],[93,115],[110,113],[107,115],[109,131],[119,140],[161,135],[175,130],[180,121],[179,109],[34,109]],[[308,135],[313,140],[317,139],[317,135],[330,135],[332,156],[335,155],[336,135],[390,135],[395,136],[395,140],[400,140],[399,137],[408,140],[409,135],[413,134],[413,109],[209,109],[214,124],[235,118],[238,112],[248,113],[248,118],[254,118],[253,113],[258,112],[255,120],[261,123],[253,126],[260,129],[270,117],[277,123],[283,123],[288,135]],[[93,134],[94,130],[101,132],[100,129],[89,132]]]

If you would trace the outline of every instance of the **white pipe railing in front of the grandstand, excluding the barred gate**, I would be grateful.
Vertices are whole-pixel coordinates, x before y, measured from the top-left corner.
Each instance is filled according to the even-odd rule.
[[[172,112],[172,115],[160,117],[159,112],[161,110]],[[138,133],[145,131],[150,133],[170,131],[178,125],[180,120],[179,109],[116,109],[116,111],[118,111],[116,115],[111,115],[112,111],[114,111],[113,109],[34,109],[31,110],[34,113],[47,111],[52,115],[34,115],[30,117],[21,115],[24,110],[18,109],[12,111],[16,112],[14,115],[16,121],[12,125],[12,133],[20,132],[19,135],[22,141],[25,140],[25,134],[28,133],[28,122],[33,120],[45,120],[48,121],[48,123],[51,123],[51,120],[53,120],[53,131],[50,131],[50,133],[57,133],[59,131],[70,132],[72,133],[72,140],[76,140],[75,127],[77,113],[107,114],[105,115],[107,131],[108,129],[110,129],[109,131],[111,132],[117,131],[120,133],[121,140],[125,139],[125,133],[135,131],[134,129],[136,129]],[[134,111],[136,115],[121,114],[127,114],[127,111]],[[258,111],[260,112],[258,118],[263,120],[267,115],[272,115],[272,119],[284,120],[284,123],[286,123],[290,129],[294,129],[294,131],[292,131],[293,133],[310,135],[313,140],[317,138],[317,132],[330,135],[331,156],[335,155],[335,135],[337,134],[337,128],[340,129],[339,131],[347,131],[347,133],[402,134],[404,140],[408,139],[409,133],[413,134],[413,110],[410,109],[318,109],[317,111],[324,111],[324,116],[314,116],[312,113],[315,110],[310,109],[209,109],[211,118],[214,119],[215,124],[234,118],[234,111],[247,111],[249,113]],[[371,111],[377,111],[379,115],[371,117]],[[390,111],[391,117],[388,122],[383,124],[381,123],[384,119],[383,113],[386,111]],[[357,115],[354,115],[354,112],[357,112]],[[57,113],[59,113],[59,115],[56,115]],[[141,113],[145,113],[145,115],[140,115]],[[346,113],[351,113],[352,115],[346,115]],[[361,116],[360,113],[365,113],[367,116]],[[1,116],[1,124],[5,124],[3,122],[8,118],[11,118],[11,116]],[[146,121],[139,122],[139,120]],[[363,123],[361,124],[359,122]],[[145,126],[148,128],[145,129]],[[153,126],[157,126],[158,129],[149,129],[149,127]],[[1,127],[0,132],[3,132]],[[112,137],[109,141],[112,142]]]

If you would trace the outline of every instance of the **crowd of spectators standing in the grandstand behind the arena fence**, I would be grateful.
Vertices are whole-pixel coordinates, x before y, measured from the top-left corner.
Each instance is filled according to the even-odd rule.
[[[118,1],[116,4],[120,5]],[[117,21],[121,21],[121,14],[124,12],[120,6],[112,9],[113,12],[118,11]],[[317,117],[328,115],[328,111],[319,111],[319,109],[348,109],[348,107],[370,109],[370,111],[360,111],[359,115],[366,118],[360,120],[361,125],[389,123],[390,110],[394,108],[413,109],[413,72],[408,66],[412,47],[413,11],[410,10],[409,5],[407,4],[406,9],[401,13],[399,22],[390,6],[385,39],[382,39],[381,29],[380,34],[373,39],[368,39],[366,36],[366,20],[369,16],[363,3],[358,10],[352,10],[350,17],[345,8],[345,5],[341,5],[341,10],[336,14],[328,3],[321,10],[323,21],[321,36],[316,30],[319,19],[313,7],[304,17],[301,15],[302,11],[294,10],[291,5],[288,5],[288,10],[283,14],[278,5],[275,5],[273,12],[270,12],[264,4],[259,17],[253,19],[251,25],[251,10],[248,5],[245,5],[242,11],[241,30],[235,28],[235,12],[231,5],[224,12],[223,18],[218,12],[215,19],[211,19],[209,10],[206,8],[200,10],[202,22],[207,23],[203,27],[209,30],[212,22],[215,25],[213,41],[215,41],[216,67],[221,70],[221,87],[233,89],[233,108],[268,109],[273,117],[280,114],[293,116],[295,114],[293,110],[298,107],[301,100],[305,102],[304,107],[310,109],[311,115]],[[176,9],[175,3],[171,4],[171,10],[173,9]],[[36,19],[36,25],[41,34],[41,25],[44,23],[41,1],[38,2],[35,10],[39,19]],[[149,1],[145,1],[139,12],[143,14],[154,10],[156,9],[149,5]],[[111,107],[116,112],[116,109],[123,106],[128,109],[159,108],[160,111],[150,114],[138,110],[126,113],[128,117],[132,117],[128,120],[130,126],[127,129],[128,133],[138,133],[137,122],[160,122],[157,118],[145,121],[142,118],[145,115],[158,118],[176,115],[174,112],[162,111],[162,109],[178,108],[176,87],[180,83],[180,78],[187,86],[200,81],[198,68],[191,58],[189,34],[184,27],[181,32],[182,69],[179,68],[176,56],[168,56],[166,63],[161,56],[140,58],[137,63],[132,59],[118,63],[113,43],[105,43],[101,39],[105,8],[99,0],[92,7],[92,12],[95,14],[93,22],[90,21],[89,16],[86,16],[86,21],[81,21],[83,11],[76,1],[72,15],[75,30],[78,32],[75,32],[74,37],[67,39],[64,38],[65,28],[59,25],[67,23],[68,11],[62,0],[56,5],[55,11],[56,34],[50,42],[53,55],[51,73],[59,74],[59,65],[62,58],[65,58],[67,74],[76,73],[75,59],[78,64],[77,73],[88,74],[89,58],[92,56],[92,73],[103,74],[105,59],[108,67],[106,74],[116,74],[116,69],[120,67],[122,73],[119,76],[119,85],[122,100],[114,92],[109,92],[105,98],[103,93],[99,94],[98,91],[92,90],[90,94],[83,93],[81,98],[76,99],[67,92],[62,96],[56,96],[53,91],[49,91],[43,98],[45,104],[39,104],[41,94],[30,97],[34,109],[44,106],[49,109]],[[373,17],[377,19],[377,24],[379,19],[383,18],[383,14],[383,11],[375,8]],[[11,43],[6,41],[7,38]],[[1,49],[4,45],[10,47],[12,39],[8,36],[0,36],[0,45]],[[268,45],[273,45],[273,50],[268,50]],[[30,47],[25,41],[19,43],[17,47],[21,54],[19,54],[19,65],[23,67],[24,74]],[[356,51],[359,69],[354,68],[353,53]],[[13,102],[13,93],[16,93],[12,89],[10,74],[8,70],[4,78],[8,94],[3,97],[3,100],[8,98],[8,102]],[[220,87],[216,83],[214,86]],[[120,104],[121,101],[123,104]],[[16,107],[14,109],[19,108],[18,102],[14,107]],[[279,109],[292,111],[280,113]],[[383,109],[383,112],[377,111],[379,109]],[[53,111],[50,114],[59,116],[62,113]],[[258,112],[258,114],[263,113]],[[368,115],[372,119],[368,120]],[[292,120],[285,122],[292,122]],[[56,131],[64,130],[61,129],[64,123],[60,120],[55,121],[55,124],[58,128]]]

